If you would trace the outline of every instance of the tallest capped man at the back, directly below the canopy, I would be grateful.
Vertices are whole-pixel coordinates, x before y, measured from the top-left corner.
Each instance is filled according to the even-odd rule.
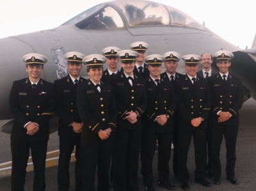
[[[130,45],[130,49],[140,54],[140,56],[136,58],[133,73],[141,75],[143,78],[147,78],[149,76],[149,71],[148,65],[144,62],[144,59],[146,50],[148,49],[148,44],[145,42],[134,42]]]

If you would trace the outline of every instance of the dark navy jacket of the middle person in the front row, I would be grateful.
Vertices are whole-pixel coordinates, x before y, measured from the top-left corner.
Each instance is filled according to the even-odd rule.
[[[141,116],[147,107],[147,93],[145,87],[145,80],[140,75],[134,74],[134,81],[131,84],[121,70],[120,73],[111,75],[109,77],[109,84],[113,88],[116,98],[116,106],[118,109],[117,128],[124,130],[137,130],[142,128],[141,118],[138,117],[138,121],[134,124],[124,120],[125,112],[135,112]]]

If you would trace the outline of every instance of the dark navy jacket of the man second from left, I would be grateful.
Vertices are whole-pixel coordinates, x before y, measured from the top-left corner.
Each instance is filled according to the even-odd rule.
[[[79,78],[78,84],[86,82],[83,77]],[[79,136],[69,126],[73,121],[81,123],[82,120],[76,106],[76,88],[70,75],[54,81],[56,91],[56,114],[59,117],[58,135]]]

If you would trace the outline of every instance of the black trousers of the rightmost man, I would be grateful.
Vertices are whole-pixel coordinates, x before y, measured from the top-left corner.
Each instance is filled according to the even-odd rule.
[[[212,174],[215,177],[221,176],[220,146],[223,135],[226,141],[227,150],[227,178],[235,176],[236,165],[236,139],[238,125],[214,125],[212,128]]]

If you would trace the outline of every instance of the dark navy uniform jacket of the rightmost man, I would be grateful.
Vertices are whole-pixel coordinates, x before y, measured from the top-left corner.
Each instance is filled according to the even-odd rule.
[[[211,89],[211,109],[214,122],[218,123],[219,111],[230,112],[232,117],[220,125],[239,125],[239,110],[243,105],[244,87],[242,81],[236,75],[228,73],[227,81],[218,73],[209,77]]]

